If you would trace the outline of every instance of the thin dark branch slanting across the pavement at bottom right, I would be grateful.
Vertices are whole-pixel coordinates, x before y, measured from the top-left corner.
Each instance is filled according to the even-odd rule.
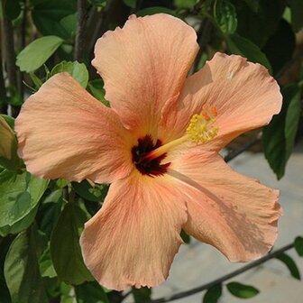
[[[294,247],[294,243],[289,243],[288,245],[285,245],[285,246],[281,247],[277,251],[272,252],[272,253],[268,253],[267,255],[265,255],[264,257],[260,258],[259,260],[250,262],[249,264],[243,266],[242,268],[240,268],[240,269],[238,269],[236,271],[232,271],[232,272],[226,274],[225,276],[222,276],[219,279],[212,280],[212,281],[208,282],[207,284],[201,285],[201,286],[199,286],[197,288],[194,288],[194,289],[189,289],[189,290],[186,290],[186,291],[181,291],[181,292],[176,293],[174,295],[170,295],[170,296],[166,296],[166,297],[162,297],[162,298],[152,299],[152,300],[147,301],[146,303],[165,303],[165,302],[170,302],[170,301],[176,300],[178,298],[185,298],[185,297],[194,295],[197,292],[201,292],[203,290],[210,289],[211,287],[213,287],[213,286],[215,286],[217,284],[225,282],[225,280],[230,280],[230,279],[234,278],[235,276],[239,275],[240,273],[243,273],[245,271],[249,271],[249,270],[253,269],[254,267],[257,267],[257,266],[261,265],[264,262],[267,262],[267,261],[269,261],[269,260],[271,260],[273,258],[276,258],[281,253],[284,253],[284,252],[288,251],[289,249],[291,249],[293,247]]]

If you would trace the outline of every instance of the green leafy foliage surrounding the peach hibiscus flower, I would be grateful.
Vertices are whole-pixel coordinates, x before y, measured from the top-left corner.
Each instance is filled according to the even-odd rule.
[[[283,108],[263,129],[262,143],[271,169],[278,179],[283,177],[302,135],[302,0],[1,0],[0,4],[0,114],[12,130],[25,97],[61,71],[109,106],[103,81],[90,65],[96,39],[123,26],[130,14],[172,14],[197,30],[201,50],[192,72],[216,51],[224,51],[261,63],[277,79]],[[75,44],[77,40],[81,45]],[[150,299],[151,289],[125,294],[102,288],[83,262],[79,234],[102,207],[107,186],[33,177],[17,157],[12,140],[11,161],[0,157],[0,302],[107,303],[122,302],[130,294],[135,302]],[[190,241],[187,234],[182,236]],[[299,255],[302,241],[298,237],[295,242]],[[288,255],[281,254],[279,260],[300,278]],[[238,298],[259,292],[234,281],[224,287]],[[222,284],[209,288],[203,302],[217,302],[222,291]]]

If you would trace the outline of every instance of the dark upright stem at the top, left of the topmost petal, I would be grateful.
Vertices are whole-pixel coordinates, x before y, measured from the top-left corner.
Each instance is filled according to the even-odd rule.
[[[87,22],[87,0],[78,0],[78,27],[75,43],[75,60],[83,60],[85,27]]]

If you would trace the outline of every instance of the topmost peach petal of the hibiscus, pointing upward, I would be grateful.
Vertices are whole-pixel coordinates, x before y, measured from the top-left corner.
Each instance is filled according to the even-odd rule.
[[[92,64],[105,81],[106,99],[139,137],[157,137],[165,102],[179,95],[197,54],[196,32],[168,14],[131,16],[123,29],[96,42]]]

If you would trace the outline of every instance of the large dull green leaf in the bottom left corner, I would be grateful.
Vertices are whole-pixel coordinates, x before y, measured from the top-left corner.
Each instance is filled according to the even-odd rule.
[[[5,280],[12,303],[47,303],[32,230],[14,239],[5,258]]]

